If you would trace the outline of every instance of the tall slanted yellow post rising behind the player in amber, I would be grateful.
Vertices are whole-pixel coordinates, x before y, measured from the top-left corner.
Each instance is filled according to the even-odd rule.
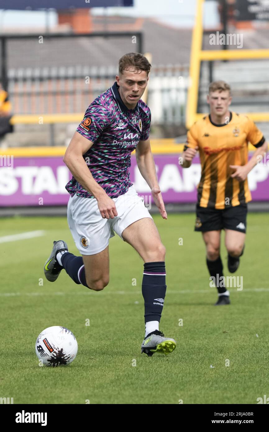
[[[205,0],[197,0],[196,17],[193,26],[193,36],[190,54],[190,84],[188,88],[186,127],[189,129],[194,123],[194,113],[197,112],[198,87],[200,73],[200,56],[203,42],[203,5]]]

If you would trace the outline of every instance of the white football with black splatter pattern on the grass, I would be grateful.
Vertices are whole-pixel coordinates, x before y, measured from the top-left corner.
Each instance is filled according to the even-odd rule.
[[[45,328],[35,343],[35,353],[46,366],[68,365],[77,351],[78,343],[72,331],[57,325]]]

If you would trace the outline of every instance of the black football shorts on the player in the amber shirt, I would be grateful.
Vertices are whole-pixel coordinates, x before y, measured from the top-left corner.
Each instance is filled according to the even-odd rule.
[[[196,221],[194,231],[218,231],[219,229],[233,229],[246,232],[247,229],[247,204],[229,206],[218,210],[208,207],[200,207],[196,204]]]

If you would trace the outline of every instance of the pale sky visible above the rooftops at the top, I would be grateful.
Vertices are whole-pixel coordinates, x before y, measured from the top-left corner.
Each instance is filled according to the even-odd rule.
[[[1,3],[0,3],[1,4]],[[193,25],[196,0],[134,0],[134,7],[108,8],[108,14],[152,17],[175,27]],[[205,3],[204,25],[218,24],[217,2],[209,0]],[[104,8],[93,8],[93,14],[103,14]],[[44,26],[46,14],[42,11],[0,10],[0,31],[3,27],[38,27]],[[49,13],[49,24],[57,24],[57,13]]]

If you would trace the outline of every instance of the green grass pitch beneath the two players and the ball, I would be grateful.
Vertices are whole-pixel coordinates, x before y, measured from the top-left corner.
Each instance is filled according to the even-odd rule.
[[[269,395],[268,213],[249,214],[246,249],[235,273],[243,276],[244,287],[230,289],[231,305],[221,307],[212,306],[217,294],[209,287],[194,215],[154,220],[167,248],[160,329],[177,340],[177,348],[148,358],[140,354],[143,262],[130,245],[117,235],[111,239],[110,283],[93,292],[64,270],[54,283],[44,277],[53,240],[64,239],[78,254],[65,218],[1,219],[0,236],[45,230],[43,237],[0,244],[1,397],[13,397],[14,403],[255,404]],[[228,275],[223,241],[222,260]],[[35,340],[53,325],[73,331],[78,354],[68,366],[39,367]]]

